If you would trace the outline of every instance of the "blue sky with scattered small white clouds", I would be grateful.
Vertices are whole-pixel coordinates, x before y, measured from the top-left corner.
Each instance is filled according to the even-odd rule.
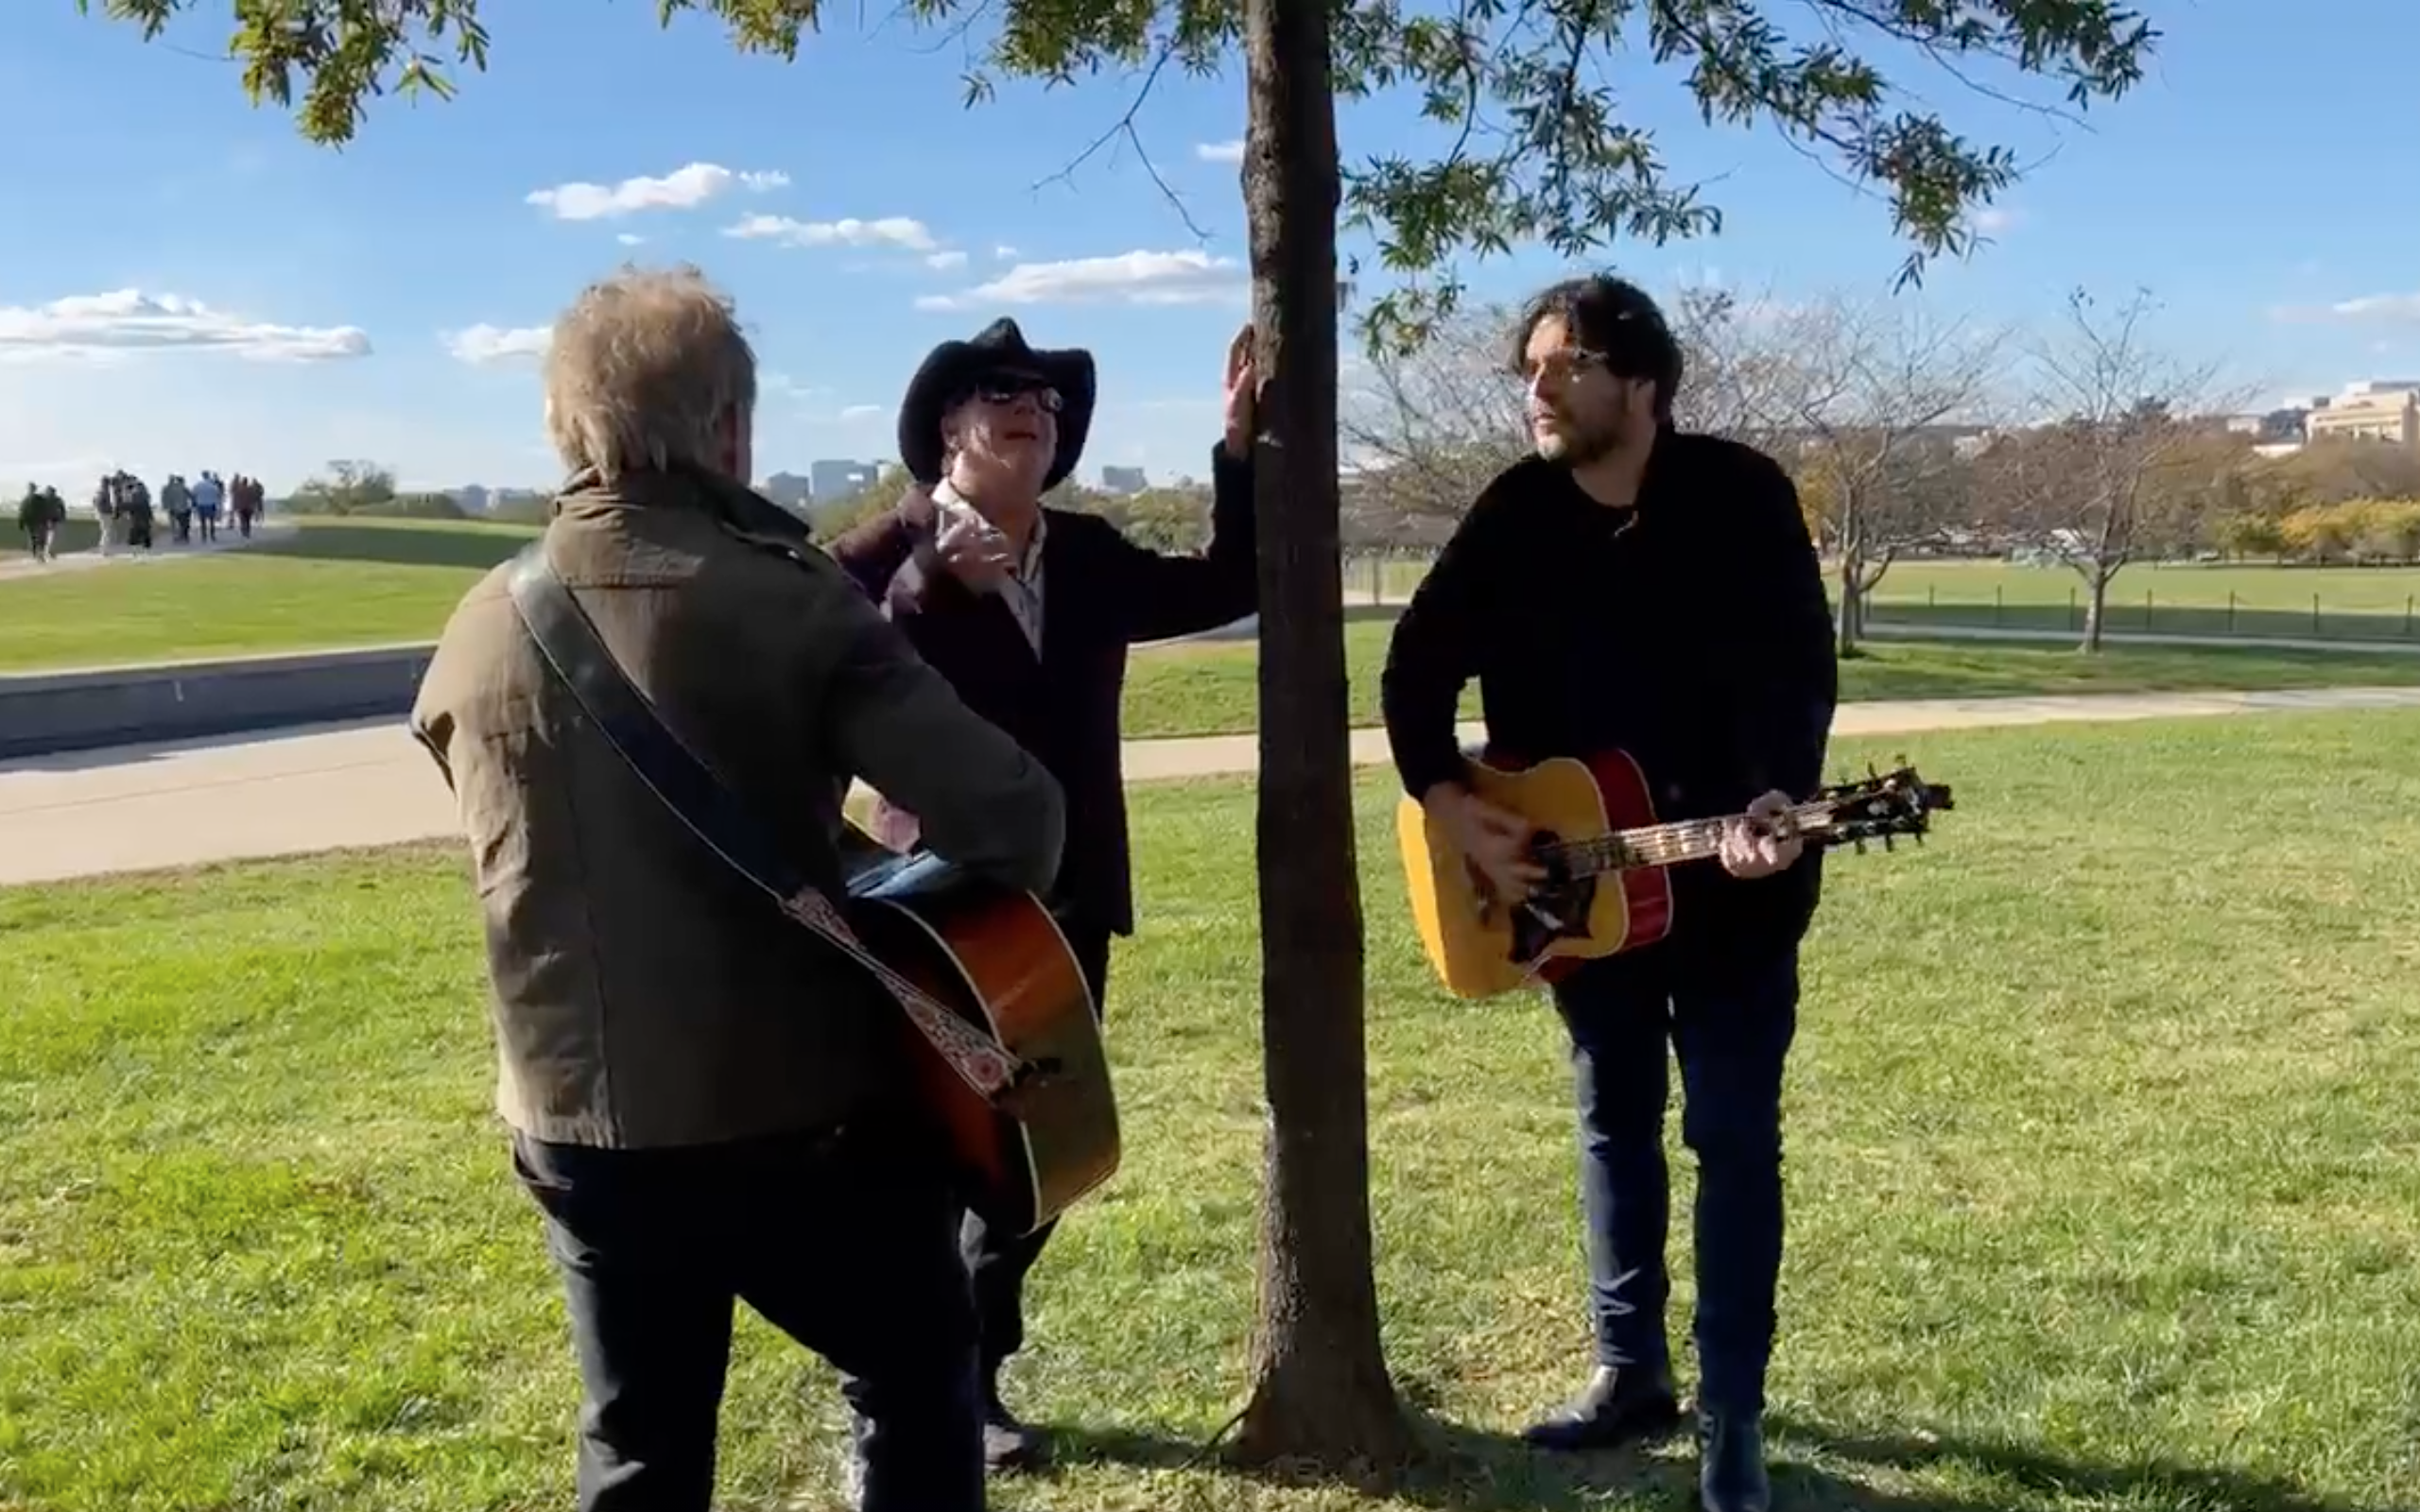
[[[741,58],[699,17],[661,31],[653,5],[486,10],[489,73],[460,75],[453,102],[373,102],[336,152],[244,102],[208,56],[225,22],[145,46],[70,0],[5,7],[0,481],[123,464],[283,489],[368,457],[411,484],[547,484],[528,353],[632,256],[695,259],[738,298],[770,375],[760,472],[895,455],[915,363],[995,314],[1099,356],[1087,479],[1205,472],[1244,319],[1244,210],[1217,152],[1244,131],[1237,70],[1162,77],[1140,114],[1198,240],[1133,150],[1043,181],[1125,111],[1130,80],[1004,82],[968,109],[963,44],[886,7],[835,7],[847,19],[789,65]],[[2401,191],[2420,7],[2362,5],[2360,46],[2263,0],[2149,10],[2168,31],[2151,77],[2086,126],[1902,68],[2033,162],[1994,244],[1905,298],[2050,322],[2072,285],[2147,285],[2166,344],[2263,394],[2420,370],[2420,201]],[[1643,60],[1621,73],[1725,227],[1595,261],[1658,290],[1888,285],[1905,249],[1878,198],[1771,133],[1701,126]],[[1425,140],[1401,97],[1358,106],[1343,138],[1348,160]],[[1558,271],[1527,252],[1474,283],[1510,298]]]

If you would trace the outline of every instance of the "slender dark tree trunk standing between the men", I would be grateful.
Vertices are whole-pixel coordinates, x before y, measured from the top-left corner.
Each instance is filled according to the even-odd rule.
[[[1249,0],[1244,201],[1261,394],[1261,1190],[1237,1454],[1392,1466],[1408,1425],[1370,1275],[1362,914],[1336,481],[1336,99],[1329,7]]]

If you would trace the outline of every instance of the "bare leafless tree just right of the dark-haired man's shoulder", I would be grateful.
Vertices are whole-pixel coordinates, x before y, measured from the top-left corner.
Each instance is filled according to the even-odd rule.
[[[2004,339],[1907,300],[1827,298],[1767,322],[1762,351],[1735,365],[1767,375],[1757,402],[1839,571],[1839,653],[1859,656],[1883,573],[1965,513],[1958,438],[1982,428]]]

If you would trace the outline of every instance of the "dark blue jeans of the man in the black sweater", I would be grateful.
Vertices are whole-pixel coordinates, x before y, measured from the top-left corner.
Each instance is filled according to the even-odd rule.
[[[1670,1369],[1665,1048],[1696,1154],[1696,1355],[1709,1408],[1764,1410],[1781,1275],[1781,1067],[1798,1028],[1798,951],[1612,956],[1556,989],[1580,1110],[1580,1210],[1597,1362]]]

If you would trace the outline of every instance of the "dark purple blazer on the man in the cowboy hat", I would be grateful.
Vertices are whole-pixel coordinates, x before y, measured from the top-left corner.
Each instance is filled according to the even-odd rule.
[[[1125,653],[1232,624],[1258,610],[1251,462],[1210,455],[1210,544],[1150,552],[1099,515],[1050,508],[1043,535],[1043,651],[1036,658],[997,595],[929,576],[917,547],[934,510],[893,508],[825,552],[883,605],[958,697],[1033,752],[1067,791],[1067,849],[1053,905],[1074,922],[1133,934],[1120,702]]]

